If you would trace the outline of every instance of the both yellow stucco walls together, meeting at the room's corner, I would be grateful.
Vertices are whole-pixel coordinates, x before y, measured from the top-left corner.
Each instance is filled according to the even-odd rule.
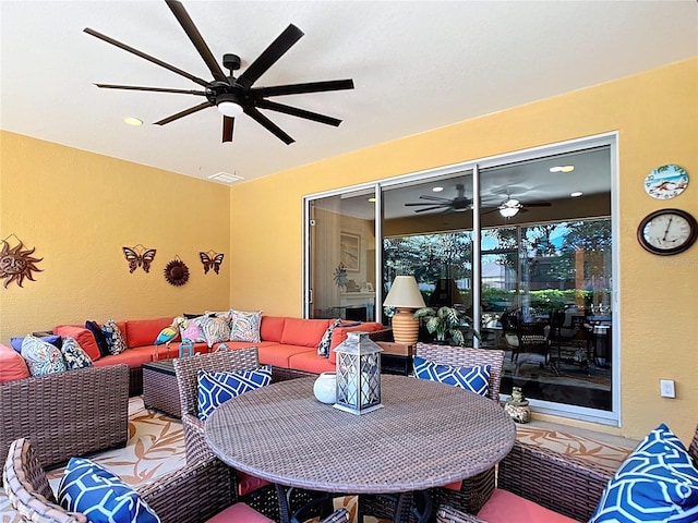
[[[330,158],[227,188],[12,133],[0,133],[0,239],[36,247],[43,272],[0,287],[0,342],[59,323],[173,316],[205,308],[298,316],[301,197],[545,144],[619,136],[622,428],[660,421],[687,440],[698,421],[698,246],[671,258],[635,240],[648,212],[642,180],[673,162],[693,182],[669,205],[698,216],[698,59]],[[130,275],[121,246],[158,254]],[[225,253],[220,276],[198,252]],[[186,285],[163,278],[179,255]],[[0,282],[1,284],[2,282]],[[676,380],[675,400],[659,379]]]

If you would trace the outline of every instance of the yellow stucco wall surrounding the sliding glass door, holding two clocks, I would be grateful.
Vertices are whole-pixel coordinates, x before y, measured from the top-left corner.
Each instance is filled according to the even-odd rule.
[[[231,305],[301,313],[301,197],[438,166],[618,132],[622,428],[643,436],[659,422],[687,440],[698,422],[698,246],[662,258],[642,251],[636,229],[650,211],[677,206],[698,216],[698,59],[489,114],[292,169],[231,190]],[[662,203],[645,194],[653,168],[693,175]],[[254,202],[254,205],[249,205]],[[269,297],[273,296],[273,297]],[[660,398],[660,378],[677,398]]]

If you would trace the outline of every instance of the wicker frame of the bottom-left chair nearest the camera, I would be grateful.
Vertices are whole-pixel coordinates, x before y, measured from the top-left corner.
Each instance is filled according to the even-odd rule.
[[[238,503],[234,471],[217,458],[184,467],[136,489],[139,495],[158,514],[163,523],[200,523]],[[12,507],[26,522],[86,523],[87,518],[68,512],[58,504],[46,473],[28,439],[17,439],[10,446],[2,481]],[[230,521],[253,520],[239,503],[241,512],[230,514]],[[233,509],[234,510],[234,509]],[[339,509],[323,523],[347,523],[349,514]],[[272,522],[269,522],[272,523]]]

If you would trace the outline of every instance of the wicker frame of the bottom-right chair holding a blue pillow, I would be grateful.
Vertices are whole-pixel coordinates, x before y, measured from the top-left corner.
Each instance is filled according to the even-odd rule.
[[[698,427],[688,447],[698,466]],[[574,455],[516,441],[500,463],[498,488],[577,521],[589,521],[613,472]],[[438,523],[485,523],[477,516],[442,506]]]

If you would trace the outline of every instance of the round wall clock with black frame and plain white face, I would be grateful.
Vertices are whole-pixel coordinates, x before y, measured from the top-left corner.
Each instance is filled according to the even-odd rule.
[[[683,253],[696,243],[698,222],[685,210],[655,210],[640,222],[637,239],[640,245],[652,254]]]

